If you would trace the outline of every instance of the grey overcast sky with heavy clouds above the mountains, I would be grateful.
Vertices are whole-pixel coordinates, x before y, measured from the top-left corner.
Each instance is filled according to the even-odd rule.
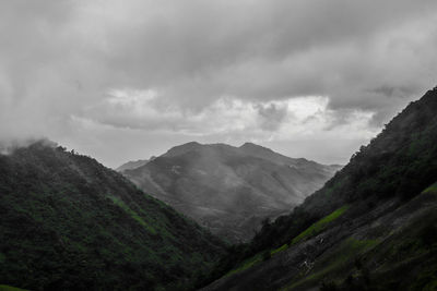
[[[0,140],[344,163],[437,85],[435,0],[2,0]]]

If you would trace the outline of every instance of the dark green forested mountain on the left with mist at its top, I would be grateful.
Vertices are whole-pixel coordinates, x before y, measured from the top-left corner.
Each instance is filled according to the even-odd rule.
[[[39,141],[0,155],[0,283],[184,290],[225,245],[96,160]]]

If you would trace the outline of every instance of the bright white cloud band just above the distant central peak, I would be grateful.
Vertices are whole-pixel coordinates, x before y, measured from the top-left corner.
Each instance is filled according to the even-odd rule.
[[[311,138],[311,136],[369,137],[371,111],[335,111],[329,97],[290,97],[260,101],[222,97],[201,110],[163,108],[156,90],[113,89],[82,117],[115,128],[166,131],[192,136],[241,132],[258,141]],[[237,140],[237,138],[235,138]]]

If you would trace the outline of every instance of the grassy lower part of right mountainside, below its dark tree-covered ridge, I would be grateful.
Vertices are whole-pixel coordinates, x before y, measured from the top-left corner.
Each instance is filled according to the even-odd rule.
[[[432,189],[432,187],[430,187]],[[259,253],[203,290],[435,290],[437,194],[354,217],[344,211],[290,247]]]

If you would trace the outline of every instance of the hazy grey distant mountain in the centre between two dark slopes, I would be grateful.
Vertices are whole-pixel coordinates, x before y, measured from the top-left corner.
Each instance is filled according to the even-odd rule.
[[[265,218],[288,213],[340,169],[259,145],[196,142],[122,174],[231,242],[246,242]]]

